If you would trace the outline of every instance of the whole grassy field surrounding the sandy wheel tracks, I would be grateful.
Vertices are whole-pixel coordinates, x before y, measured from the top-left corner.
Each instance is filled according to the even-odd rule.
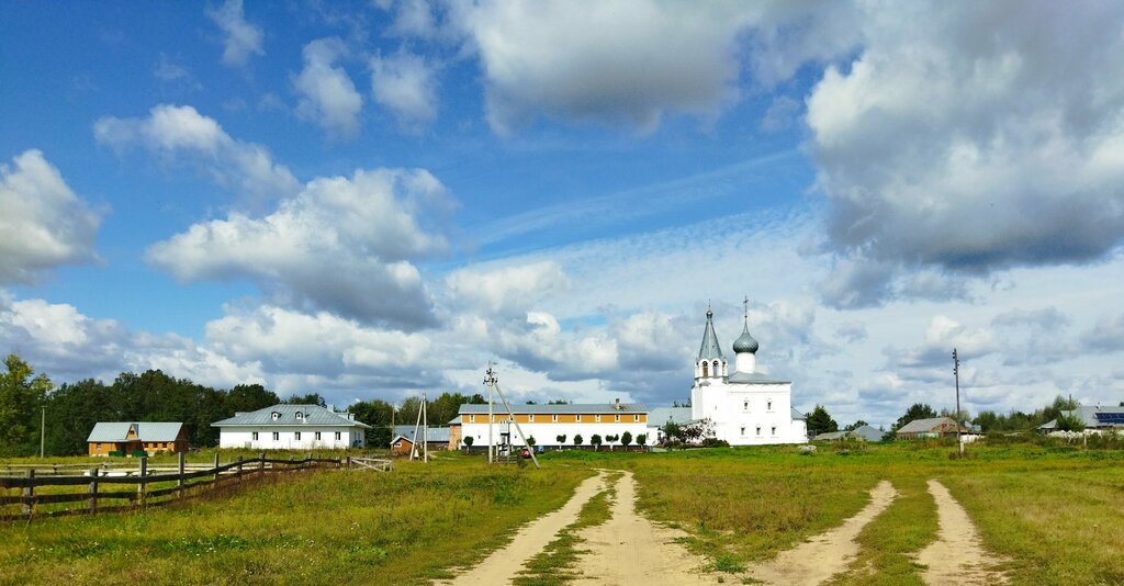
[[[1124,583],[1124,451],[1068,445],[821,447],[660,454],[558,452],[543,470],[448,454],[390,474],[290,475],[248,490],[144,513],[0,525],[0,583],[411,583],[448,576],[561,506],[597,468],[629,469],[638,507],[686,530],[715,571],[839,525],[890,480],[898,498],[859,535],[837,584],[921,584],[912,556],[936,532],[925,488],[941,480],[1009,561],[1014,584]],[[224,461],[227,459],[224,456]],[[203,460],[207,461],[207,460]],[[605,507],[587,505],[583,517]],[[600,508],[598,508],[600,507]],[[520,583],[562,584],[581,544],[563,534]]]

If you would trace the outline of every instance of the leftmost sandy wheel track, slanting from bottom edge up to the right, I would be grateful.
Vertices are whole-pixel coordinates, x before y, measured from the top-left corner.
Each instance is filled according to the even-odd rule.
[[[523,566],[554,540],[559,531],[573,523],[581,512],[582,505],[605,489],[605,472],[600,471],[592,478],[587,478],[574,490],[573,496],[562,508],[532,522],[516,532],[507,547],[493,551],[472,569],[452,580],[438,580],[436,584],[453,584],[457,586],[511,584],[511,578],[523,569]]]

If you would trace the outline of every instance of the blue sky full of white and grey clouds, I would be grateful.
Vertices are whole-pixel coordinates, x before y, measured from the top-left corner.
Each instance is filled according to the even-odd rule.
[[[0,2],[0,351],[337,404],[1124,399],[1118,2]]]

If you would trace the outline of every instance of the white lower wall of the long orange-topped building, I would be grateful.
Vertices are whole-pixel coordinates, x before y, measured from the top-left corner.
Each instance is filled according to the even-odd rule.
[[[599,434],[602,439],[601,445],[608,447],[609,442],[604,441],[606,435],[624,435],[625,432],[631,432],[633,434],[633,441],[629,445],[637,445],[636,436],[642,433],[647,433],[650,435],[647,443],[649,444],[652,443],[651,433],[649,432],[646,422],[632,421],[634,415],[632,413],[622,414],[620,415],[622,421],[615,422],[613,421],[614,415],[615,414],[601,415],[602,421],[600,423],[597,422],[553,423],[550,421],[529,422],[529,423],[519,422],[519,427],[523,429],[523,433],[526,433],[527,436],[535,438],[536,445],[559,445],[558,436],[562,434],[565,434],[566,436],[565,443],[562,445],[573,447],[574,435],[581,435],[582,445],[591,445],[589,441],[596,433]],[[487,420],[487,417],[488,416],[484,415],[483,417],[479,418]],[[547,417],[550,416],[547,415]],[[626,418],[628,421],[625,421]],[[492,424],[492,440],[495,441],[495,443],[497,445],[500,443],[501,441],[500,434],[508,432],[508,425],[510,425],[511,444],[518,447],[524,445],[523,439],[519,438],[519,432],[515,429],[515,425],[508,424],[507,422],[497,422]],[[487,422],[477,422],[477,423],[463,422],[461,423],[461,431],[462,431],[461,435],[462,445],[464,444],[464,438],[470,435],[472,436],[473,447],[479,448],[481,445],[488,445]],[[613,445],[620,445],[620,441],[618,440]]]

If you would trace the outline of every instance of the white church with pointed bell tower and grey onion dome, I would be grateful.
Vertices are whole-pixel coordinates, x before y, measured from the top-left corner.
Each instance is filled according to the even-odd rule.
[[[746,304],[749,301],[746,300]],[[805,443],[805,416],[792,408],[792,382],[758,372],[758,341],[745,327],[734,341],[734,371],[714,333],[714,312],[707,309],[703,345],[695,360],[691,420],[710,420],[714,435],[731,445]]]

